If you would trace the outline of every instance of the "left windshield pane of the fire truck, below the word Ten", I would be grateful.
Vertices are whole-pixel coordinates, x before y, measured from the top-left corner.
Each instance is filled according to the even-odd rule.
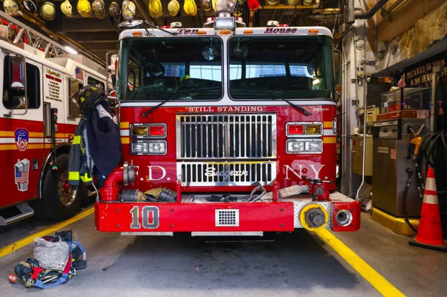
[[[223,94],[222,40],[127,38],[120,42],[121,100],[218,100]]]

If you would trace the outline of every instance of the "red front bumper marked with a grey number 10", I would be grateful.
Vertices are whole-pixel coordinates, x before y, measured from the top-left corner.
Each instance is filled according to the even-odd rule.
[[[96,228],[102,232],[256,232],[316,228],[306,223],[305,212],[320,208],[325,222],[319,228],[356,231],[360,228],[360,203],[341,193],[330,201],[303,198],[278,202],[154,203],[103,202],[95,204]],[[339,224],[340,215],[350,216]]]

